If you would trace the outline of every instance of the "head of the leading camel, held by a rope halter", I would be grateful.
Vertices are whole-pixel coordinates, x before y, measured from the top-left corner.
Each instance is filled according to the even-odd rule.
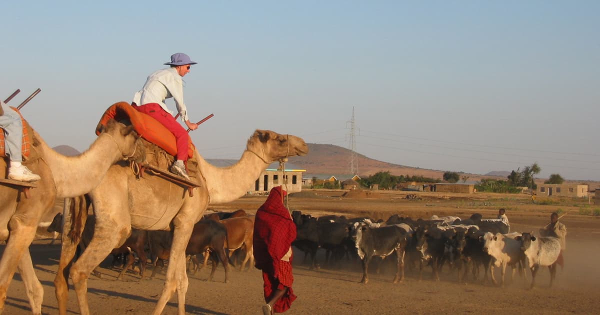
[[[308,153],[308,146],[302,138],[271,130],[254,131],[248,139],[247,149],[260,155],[268,163]]]

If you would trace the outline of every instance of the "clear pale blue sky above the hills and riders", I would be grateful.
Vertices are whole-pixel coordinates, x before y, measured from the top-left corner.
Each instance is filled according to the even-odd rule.
[[[238,159],[256,129],[405,166],[600,181],[600,1],[0,2],[0,97],[84,151],[111,104],[184,52],[190,133]],[[2,96],[4,95],[4,96]],[[167,101],[171,110],[175,103]],[[348,161],[340,161],[348,163]],[[358,166],[360,173],[360,165]]]

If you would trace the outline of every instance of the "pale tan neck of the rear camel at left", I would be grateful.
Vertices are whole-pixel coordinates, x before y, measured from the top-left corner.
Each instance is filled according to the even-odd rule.
[[[74,157],[59,154],[41,139],[40,143],[42,157],[52,172],[59,198],[89,193],[121,157],[115,140],[105,134],[101,134],[87,151]]]

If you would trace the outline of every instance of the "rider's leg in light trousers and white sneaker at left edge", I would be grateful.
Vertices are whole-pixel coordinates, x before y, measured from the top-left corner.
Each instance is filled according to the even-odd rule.
[[[0,128],[4,130],[4,151],[10,158],[8,165],[8,179],[22,182],[35,182],[40,180],[40,175],[34,174],[25,165],[21,164],[23,123],[16,110],[11,109],[0,101],[2,115],[0,115]]]

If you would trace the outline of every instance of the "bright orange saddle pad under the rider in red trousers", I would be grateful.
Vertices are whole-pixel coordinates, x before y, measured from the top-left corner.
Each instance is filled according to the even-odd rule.
[[[131,122],[131,125],[133,125],[133,129],[143,139],[154,143],[159,148],[167,151],[170,155],[177,155],[175,136],[173,136],[173,134],[156,119],[145,113],[138,112],[137,109],[134,109],[133,106],[126,102],[115,103],[104,112],[104,115],[102,115],[102,118],[96,127],[97,135],[100,134],[102,127],[106,126],[111,118],[116,121],[127,119]],[[188,157],[193,157],[194,149],[194,144],[191,142],[190,138],[188,144]]]

